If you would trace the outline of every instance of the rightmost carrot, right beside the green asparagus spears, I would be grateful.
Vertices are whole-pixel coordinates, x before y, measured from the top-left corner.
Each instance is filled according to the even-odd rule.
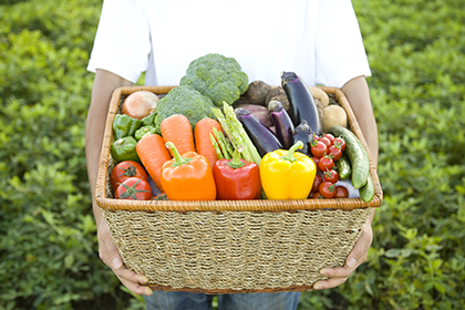
[[[197,122],[194,128],[196,151],[208,159],[211,168],[215,162],[218,161],[218,155],[210,141],[210,134],[213,134],[214,127],[221,131],[221,125],[218,121],[210,117],[204,117]]]

